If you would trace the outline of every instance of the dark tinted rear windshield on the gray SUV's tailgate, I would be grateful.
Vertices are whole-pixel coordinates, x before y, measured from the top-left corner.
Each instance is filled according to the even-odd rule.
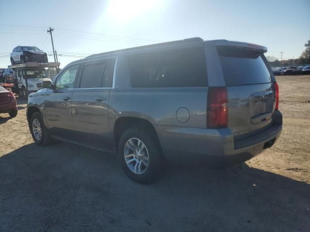
[[[269,83],[271,75],[266,58],[258,51],[240,47],[217,46],[226,86]]]

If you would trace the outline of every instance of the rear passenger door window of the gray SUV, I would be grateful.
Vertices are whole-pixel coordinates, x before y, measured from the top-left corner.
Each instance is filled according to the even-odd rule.
[[[85,62],[80,88],[112,87],[115,58]]]

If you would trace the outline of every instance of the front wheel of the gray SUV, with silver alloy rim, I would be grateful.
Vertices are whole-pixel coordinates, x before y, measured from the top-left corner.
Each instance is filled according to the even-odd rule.
[[[32,114],[29,126],[35,144],[44,146],[52,142],[51,135],[44,125],[42,116],[39,112]]]

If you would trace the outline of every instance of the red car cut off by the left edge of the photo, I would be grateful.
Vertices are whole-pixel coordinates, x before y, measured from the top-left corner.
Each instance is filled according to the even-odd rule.
[[[17,103],[14,94],[0,86],[0,113],[9,113],[11,117],[17,115]]]

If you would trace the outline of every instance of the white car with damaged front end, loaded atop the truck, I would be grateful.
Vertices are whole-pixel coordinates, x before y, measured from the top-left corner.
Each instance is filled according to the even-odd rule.
[[[10,54],[11,64],[39,62],[47,63],[47,54],[34,46],[17,46]]]

